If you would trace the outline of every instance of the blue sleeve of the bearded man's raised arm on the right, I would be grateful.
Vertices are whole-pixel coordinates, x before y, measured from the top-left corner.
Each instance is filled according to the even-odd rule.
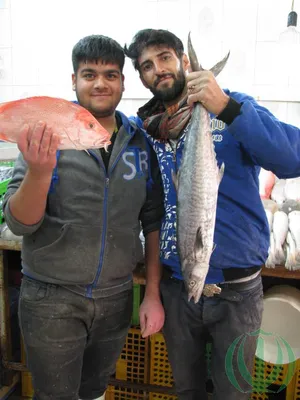
[[[228,126],[228,131],[252,162],[278,178],[300,176],[300,129],[279,121],[250,96],[228,94],[242,103],[240,114]]]

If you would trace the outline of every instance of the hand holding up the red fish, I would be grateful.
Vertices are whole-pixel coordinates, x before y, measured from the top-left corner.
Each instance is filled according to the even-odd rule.
[[[56,165],[56,151],[59,146],[59,136],[38,122],[32,128],[25,124],[18,139],[18,148],[28,164],[29,171],[39,177],[52,174]]]

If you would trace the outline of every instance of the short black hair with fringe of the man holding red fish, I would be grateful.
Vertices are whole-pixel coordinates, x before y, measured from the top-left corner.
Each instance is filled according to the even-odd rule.
[[[99,59],[104,64],[113,63],[123,71],[125,54],[122,46],[114,39],[103,35],[90,35],[79,40],[72,50],[73,70],[76,74],[81,62]]]

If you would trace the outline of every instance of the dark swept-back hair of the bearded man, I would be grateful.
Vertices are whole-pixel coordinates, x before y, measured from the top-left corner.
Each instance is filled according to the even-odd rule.
[[[165,45],[173,49],[178,58],[184,53],[182,41],[174,33],[165,29],[143,29],[137,32],[129,47],[124,46],[125,55],[131,58],[133,66],[139,71],[138,58],[149,46]]]

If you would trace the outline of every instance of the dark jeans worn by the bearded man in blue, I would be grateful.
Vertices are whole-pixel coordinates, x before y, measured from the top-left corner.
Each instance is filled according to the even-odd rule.
[[[213,399],[249,399],[251,381],[246,381],[251,379],[257,342],[257,335],[251,333],[260,328],[263,311],[261,277],[228,284],[221,295],[201,296],[198,304],[188,302],[184,284],[177,280],[163,279],[161,294],[166,313],[163,332],[179,400],[207,399],[208,336],[212,339]]]

